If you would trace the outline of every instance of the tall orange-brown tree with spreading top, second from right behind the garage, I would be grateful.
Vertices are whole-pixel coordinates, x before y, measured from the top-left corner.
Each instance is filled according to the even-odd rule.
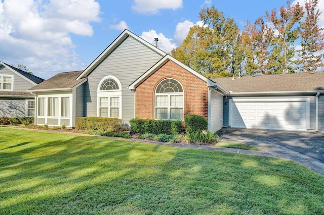
[[[279,10],[278,17],[276,10],[273,9],[271,14],[266,12],[266,18],[272,24],[276,36],[273,37],[272,55],[270,64],[275,73],[277,72],[294,72],[292,58],[295,56],[294,41],[298,38],[298,23],[303,17],[303,8],[299,3],[290,6],[287,1],[287,8],[282,6]]]

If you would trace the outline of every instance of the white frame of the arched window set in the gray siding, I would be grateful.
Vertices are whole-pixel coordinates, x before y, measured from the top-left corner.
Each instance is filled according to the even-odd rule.
[[[118,84],[118,88],[117,90],[100,90],[100,86],[101,84],[106,80],[106,79],[114,79],[116,81],[116,83]],[[105,76],[104,78],[101,79],[101,81],[99,82],[98,84],[98,88],[97,88],[97,117],[100,117],[100,108],[103,108],[100,106],[100,98],[102,97],[107,97],[108,98],[108,106],[107,107],[104,107],[104,108],[108,108],[108,117],[110,117],[110,108],[115,108],[115,107],[111,107],[110,106],[110,98],[111,97],[118,97],[119,98],[119,113],[118,113],[118,119],[121,119],[121,103],[122,103],[122,96],[121,96],[121,93],[122,93],[122,90],[121,90],[121,84],[119,82],[119,80],[112,76],[112,75],[108,75],[108,76]]]

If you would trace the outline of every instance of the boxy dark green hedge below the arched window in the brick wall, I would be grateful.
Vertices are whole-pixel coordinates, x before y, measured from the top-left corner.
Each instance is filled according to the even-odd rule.
[[[143,120],[131,119],[131,132],[133,134],[179,134],[181,132],[181,121],[171,120]]]

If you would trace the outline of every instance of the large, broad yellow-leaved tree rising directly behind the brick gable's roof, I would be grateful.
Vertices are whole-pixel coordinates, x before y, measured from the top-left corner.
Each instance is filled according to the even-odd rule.
[[[238,27],[223,12],[203,8],[199,13],[204,26],[193,26],[183,43],[172,50],[172,55],[196,71],[208,75],[228,71],[233,58],[232,42]]]

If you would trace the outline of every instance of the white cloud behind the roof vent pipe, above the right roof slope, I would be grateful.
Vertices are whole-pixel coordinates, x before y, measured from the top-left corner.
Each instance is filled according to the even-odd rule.
[[[141,38],[145,39],[146,41],[152,44],[155,44],[154,38],[158,38],[157,47],[167,53],[171,52],[173,48],[177,47],[177,45],[173,42],[172,39],[167,38],[161,33],[157,34],[155,30],[142,32]]]

